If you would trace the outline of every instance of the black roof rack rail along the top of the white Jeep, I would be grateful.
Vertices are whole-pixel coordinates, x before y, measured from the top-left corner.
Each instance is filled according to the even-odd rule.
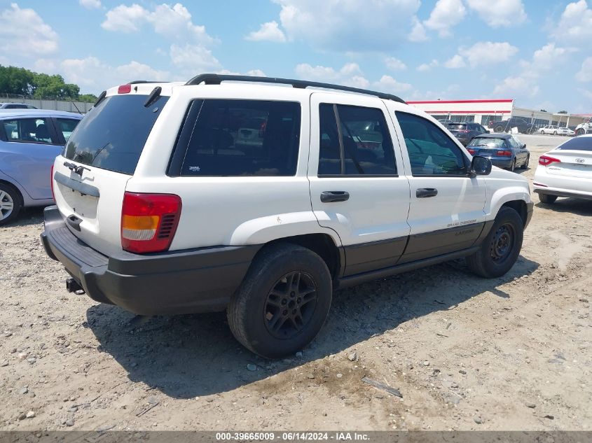
[[[193,77],[189,80],[186,85],[199,85],[205,83],[206,85],[219,85],[223,81],[245,81],[255,83],[276,83],[280,85],[291,85],[298,89],[305,89],[306,87],[322,87],[324,89],[333,89],[346,92],[357,92],[358,94],[367,94],[378,97],[379,99],[399,101],[399,103],[405,103],[405,101],[396,95],[385,94],[384,92],[376,92],[371,90],[360,89],[358,87],[333,85],[331,83],[319,83],[314,81],[306,80],[294,80],[291,78],[276,78],[276,77],[256,77],[256,76],[232,76],[232,75],[221,75],[214,73],[205,73]]]

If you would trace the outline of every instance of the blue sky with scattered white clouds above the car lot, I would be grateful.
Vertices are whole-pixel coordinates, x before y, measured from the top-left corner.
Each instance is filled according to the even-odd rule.
[[[94,94],[222,72],[592,113],[592,1],[0,0],[0,64]]]

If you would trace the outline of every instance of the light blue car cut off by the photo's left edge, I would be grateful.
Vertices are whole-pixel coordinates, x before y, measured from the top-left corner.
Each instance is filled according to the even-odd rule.
[[[0,110],[0,225],[25,206],[53,203],[50,171],[82,115]]]

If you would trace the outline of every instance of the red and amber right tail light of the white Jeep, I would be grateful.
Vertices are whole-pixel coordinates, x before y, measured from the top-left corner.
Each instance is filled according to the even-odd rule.
[[[121,246],[133,253],[167,251],[181,216],[181,197],[125,192],[121,209]]]

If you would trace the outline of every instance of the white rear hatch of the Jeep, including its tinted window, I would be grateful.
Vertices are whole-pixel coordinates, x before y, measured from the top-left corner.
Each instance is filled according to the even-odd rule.
[[[169,99],[158,95],[144,106],[155,87],[123,85],[109,90],[55,159],[53,191],[60,213],[76,237],[105,254],[121,250],[125,186]]]

